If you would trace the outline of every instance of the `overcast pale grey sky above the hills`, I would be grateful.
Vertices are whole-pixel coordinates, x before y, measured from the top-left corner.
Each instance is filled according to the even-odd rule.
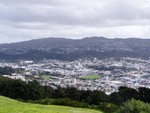
[[[150,0],[0,0],[0,43],[87,36],[150,38]]]

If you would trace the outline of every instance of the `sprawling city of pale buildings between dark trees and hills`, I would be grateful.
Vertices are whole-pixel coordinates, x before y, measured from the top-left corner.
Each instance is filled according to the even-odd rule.
[[[79,90],[101,90],[106,94],[118,91],[120,86],[150,88],[150,60],[140,58],[1,61],[0,67],[5,66],[19,71],[4,77],[26,82],[37,80],[52,88],[70,86]]]

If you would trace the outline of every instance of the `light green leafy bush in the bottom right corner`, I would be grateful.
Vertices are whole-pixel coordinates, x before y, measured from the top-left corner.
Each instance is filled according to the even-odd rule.
[[[150,104],[139,100],[131,99],[123,104],[119,109],[119,113],[149,113]]]

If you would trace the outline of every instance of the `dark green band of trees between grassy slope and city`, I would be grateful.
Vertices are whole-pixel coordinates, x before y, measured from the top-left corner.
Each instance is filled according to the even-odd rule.
[[[118,92],[106,95],[104,92],[97,90],[84,91],[77,90],[74,87],[53,89],[49,86],[41,86],[37,81],[26,83],[21,80],[0,77],[0,95],[40,104],[101,109],[108,113],[114,112],[118,108],[121,109],[121,106],[125,106],[125,102],[131,99],[140,100],[138,103],[141,103],[141,101],[150,103],[149,94],[150,89],[144,87],[138,90],[120,87]],[[132,102],[136,102],[135,100],[132,100]]]

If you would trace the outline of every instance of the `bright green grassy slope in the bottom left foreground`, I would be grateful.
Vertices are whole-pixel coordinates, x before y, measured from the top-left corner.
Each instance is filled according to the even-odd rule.
[[[100,111],[55,105],[22,103],[0,96],[0,113],[102,113]]]

